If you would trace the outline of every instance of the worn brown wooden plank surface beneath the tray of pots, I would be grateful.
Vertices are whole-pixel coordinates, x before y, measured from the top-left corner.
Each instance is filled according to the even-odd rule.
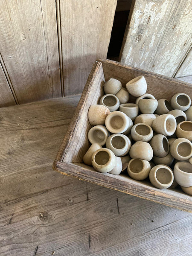
[[[0,108],[0,256],[190,256],[192,214],[61,175],[79,96]]]

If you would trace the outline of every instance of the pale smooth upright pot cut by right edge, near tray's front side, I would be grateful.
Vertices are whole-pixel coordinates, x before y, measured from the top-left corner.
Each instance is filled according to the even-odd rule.
[[[174,166],[176,182],[183,187],[192,186],[192,165],[189,162],[177,162]]]

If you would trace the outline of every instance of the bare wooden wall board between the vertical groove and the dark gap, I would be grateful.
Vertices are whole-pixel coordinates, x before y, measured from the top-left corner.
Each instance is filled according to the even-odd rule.
[[[97,58],[105,58],[117,0],[60,1],[64,95],[81,93]]]

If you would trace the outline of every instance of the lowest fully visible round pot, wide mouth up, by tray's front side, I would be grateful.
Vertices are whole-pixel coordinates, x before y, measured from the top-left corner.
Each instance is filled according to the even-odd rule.
[[[173,172],[169,166],[154,166],[149,173],[149,180],[158,189],[167,189],[173,183]]]

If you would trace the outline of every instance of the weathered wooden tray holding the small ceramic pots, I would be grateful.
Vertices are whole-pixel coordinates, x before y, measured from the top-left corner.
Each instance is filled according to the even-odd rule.
[[[98,104],[100,97],[104,94],[102,89],[104,82],[115,78],[125,87],[127,81],[141,75],[145,76],[147,81],[147,93],[153,94],[156,99],[170,100],[178,92],[187,93],[192,98],[192,87],[186,82],[123,65],[116,61],[97,60],[53,163],[53,169],[64,175],[71,175],[130,195],[192,212],[192,197],[184,194],[179,187],[177,189],[156,189],[148,181],[133,180],[126,174],[102,174],[82,163],[82,157],[90,146],[87,139],[87,133],[91,128],[87,118],[88,109],[90,105]],[[130,102],[133,100],[131,98]]]

